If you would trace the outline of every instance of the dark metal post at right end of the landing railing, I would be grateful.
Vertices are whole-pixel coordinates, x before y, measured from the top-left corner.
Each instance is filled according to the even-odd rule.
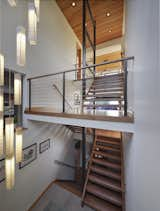
[[[128,110],[128,96],[127,96],[127,83],[128,83],[128,70],[127,70],[127,61],[123,62],[124,68],[124,116],[127,116]]]

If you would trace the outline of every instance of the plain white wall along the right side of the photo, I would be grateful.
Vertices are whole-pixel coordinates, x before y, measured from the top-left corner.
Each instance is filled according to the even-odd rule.
[[[126,54],[135,56],[135,133],[126,146],[127,211],[160,210],[159,1],[128,0]]]

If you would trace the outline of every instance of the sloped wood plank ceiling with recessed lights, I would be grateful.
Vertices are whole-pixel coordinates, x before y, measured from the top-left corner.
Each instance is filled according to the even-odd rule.
[[[82,0],[56,0],[80,42],[82,41]],[[89,0],[97,26],[96,43],[122,36],[123,0]],[[74,6],[72,6],[72,4]],[[91,24],[87,18],[87,27]]]

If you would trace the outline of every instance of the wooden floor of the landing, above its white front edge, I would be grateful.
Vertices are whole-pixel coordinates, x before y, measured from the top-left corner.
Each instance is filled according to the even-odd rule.
[[[98,121],[111,121],[111,122],[128,122],[133,123],[134,117],[131,114],[124,116],[120,111],[88,111],[84,113],[72,112],[72,113],[60,113],[53,111],[50,108],[32,108],[26,109],[25,114],[41,115],[41,116],[53,116],[63,118],[75,118],[75,119],[88,119]]]

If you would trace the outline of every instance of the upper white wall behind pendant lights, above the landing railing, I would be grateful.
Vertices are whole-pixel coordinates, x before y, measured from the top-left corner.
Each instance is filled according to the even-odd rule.
[[[6,0],[2,1],[1,44],[6,67],[30,76],[73,68],[77,38],[54,0],[41,1],[38,44],[30,46],[27,39],[26,66],[16,65],[16,27],[22,25],[28,31],[27,2],[20,0],[13,8]]]

